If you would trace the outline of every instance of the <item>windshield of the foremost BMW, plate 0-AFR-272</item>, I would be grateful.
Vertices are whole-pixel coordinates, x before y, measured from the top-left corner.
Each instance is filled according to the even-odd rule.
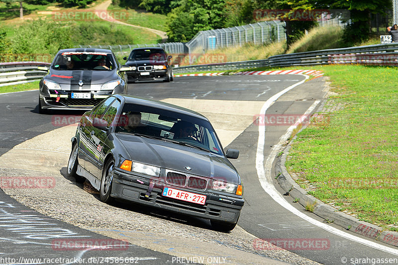
[[[125,104],[115,122],[116,133],[155,137],[222,155],[221,145],[207,120],[155,107]]]

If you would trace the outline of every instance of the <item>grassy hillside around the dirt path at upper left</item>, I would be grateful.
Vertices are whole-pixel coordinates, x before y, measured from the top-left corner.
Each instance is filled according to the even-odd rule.
[[[4,3],[0,3],[0,11],[4,11],[0,12],[0,26],[7,29],[6,37],[10,42],[12,42],[12,38],[16,31],[20,30],[22,27],[28,26],[30,20],[37,19],[42,19],[43,23],[56,22],[58,27],[68,28],[68,32],[73,39],[73,45],[75,46],[146,44],[158,43],[161,41],[159,36],[148,30],[115,24],[100,19],[100,17],[95,15],[96,4],[96,2],[92,3],[87,8],[64,8],[60,4],[54,3],[48,5],[23,3],[24,19],[20,20],[19,3],[18,6],[13,4],[11,9],[6,8]],[[97,11],[100,11],[100,15],[104,15],[104,10]],[[120,12],[117,13],[119,15],[132,12],[127,10],[122,12],[122,9],[119,11]],[[88,14],[88,12],[93,14]],[[162,20],[158,18],[158,16],[151,15],[150,13],[142,13],[139,17],[130,16],[132,18],[137,18],[136,20],[141,19],[143,21],[150,21],[152,19],[157,22],[156,26],[161,26]],[[145,18],[146,16],[147,18]],[[159,15],[159,17],[161,17],[161,15]],[[163,21],[165,22],[166,20]]]

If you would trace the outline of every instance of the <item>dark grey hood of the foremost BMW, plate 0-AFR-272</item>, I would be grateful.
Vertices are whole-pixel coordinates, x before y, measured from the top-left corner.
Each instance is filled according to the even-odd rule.
[[[165,140],[126,134],[116,134],[116,136],[133,161],[187,174],[225,180],[229,183],[240,183],[235,168],[225,157]],[[185,167],[190,167],[192,170],[188,171]]]

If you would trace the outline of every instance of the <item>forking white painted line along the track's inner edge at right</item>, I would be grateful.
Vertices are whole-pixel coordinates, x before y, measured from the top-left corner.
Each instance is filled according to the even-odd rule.
[[[305,80],[307,80],[309,77],[306,75],[305,76]],[[272,97],[270,97],[263,105],[260,114],[261,115],[265,115],[267,109],[284,93],[288,92],[289,90],[291,90],[292,88],[297,87],[298,85],[304,83],[304,81],[300,81],[292,86],[290,86],[289,88],[285,88],[284,90],[280,91],[279,93],[273,95]],[[305,112],[304,115],[309,114],[315,107],[316,105],[319,103],[319,100],[315,101],[309,108],[308,110]],[[287,132],[285,133],[285,135],[283,135],[280,139],[279,139],[279,143],[277,145],[275,145],[273,147],[273,149],[271,150],[270,155],[268,156],[265,165],[264,165],[264,142],[265,142],[265,126],[259,126],[258,128],[258,132],[259,132],[259,136],[258,136],[258,143],[257,143],[257,152],[256,152],[256,170],[257,170],[257,175],[258,178],[260,180],[261,186],[263,187],[263,189],[265,190],[265,192],[267,192],[271,198],[273,198],[277,203],[279,203],[282,207],[284,207],[285,209],[291,211],[293,214],[297,215],[298,217],[304,219],[305,221],[320,227],[332,234],[335,234],[337,236],[343,237],[345,239],[348,240],[352,240],[355,241],[357,243],[363,244],[365,246],[377,249],[377,250],[381,250],[390,254],[394,254],[394,255],[398,255],[398,250],[397,249],[393,249],[393,248],[389,248],[383,245],[380,245],[378,243],[363,239],[363,238],[359,238],[357,236],[348,234],[344,231],[341,231],[339,229],[336,229],[332,226],[329,226],[327,224],[324,224],[322,222],[319,222],[309,216],[307,216],[306,214],[300,212],[298,209],[296,209],[295,207],[293,207],[288,201],[286,201],[282,195],[277,191],[277,189],[275,188],[275,186],[272,183],[272,176],[271,176],[271,168],[272,168],[272,164],[275,160],[275,157],[277,155],[277,153],[279,152],[280,148],[282,147],[282,143],[284,141],[286,141],[288,139],[288,137],[290,136],[290,134],[292,133],[293,129],[296,128],[296,125],[292,125],[291,127],[289,127],[289,129],[287,130]]]

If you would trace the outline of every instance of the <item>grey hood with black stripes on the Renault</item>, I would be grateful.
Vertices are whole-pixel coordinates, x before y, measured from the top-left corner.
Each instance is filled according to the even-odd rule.
[[[120,78],[117,76],[116,70],[50,70],[50,73],[45,77],[45,79],[52,80],[58,84],[67,85],[79,84],[80,81],[82,81],[84,85],[100,85]]]

